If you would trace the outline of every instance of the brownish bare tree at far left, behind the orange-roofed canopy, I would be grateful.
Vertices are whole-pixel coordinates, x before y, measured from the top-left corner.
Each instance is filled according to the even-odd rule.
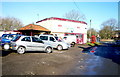
[[[22,22],[14,17],[0,17],[0,28],[2,30],[14,30],[23,26]]]

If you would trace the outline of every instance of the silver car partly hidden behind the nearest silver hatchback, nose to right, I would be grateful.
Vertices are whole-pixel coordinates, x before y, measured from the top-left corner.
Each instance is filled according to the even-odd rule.
[[[69,49],[70,45],[63,42],[62,40],[58,40],[57,37],[53,35],[39,35],[39,38],[46,43],[49,43],[53,48],[57,48],[58,50]]]

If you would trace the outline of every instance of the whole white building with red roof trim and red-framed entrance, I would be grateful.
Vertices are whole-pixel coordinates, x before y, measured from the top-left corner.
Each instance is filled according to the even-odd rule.
[[[64,18],[51,17],[36,22],[60,37],[75,35],[79,44],[87,42],[87,23]]]

